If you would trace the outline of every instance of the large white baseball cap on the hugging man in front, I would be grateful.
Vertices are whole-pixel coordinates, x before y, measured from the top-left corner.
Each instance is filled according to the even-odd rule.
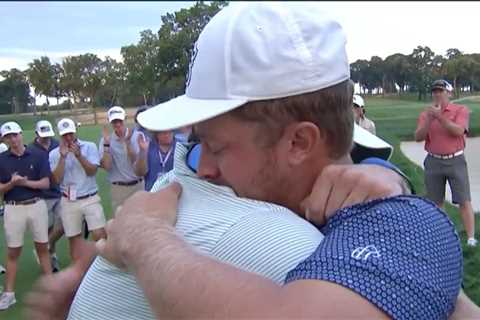
[[[346,37],[319,3],[231,3],[200,33],[185,94],[138,115],[153,131],[208,120],[249,101],[350,78]]]

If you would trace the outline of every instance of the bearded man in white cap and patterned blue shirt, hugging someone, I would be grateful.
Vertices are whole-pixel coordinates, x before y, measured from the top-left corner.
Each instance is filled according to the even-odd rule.
[[[138,120],[150,130],[196,123],[201,178],[306,216],[325,238],[282,286],[184,243],[171,227],[178,184],[137,194],[97,247],[135,274],[158,318],[443,319],[453,313],[462,250],[433,203],[396,196],[355,204],[348,190],[340,205],[346,208],[334,216],[323,209],[322,197],[345,192],[323,191],[319,181],[331,166],[351,162],[354,121],[345,36],[320,8],[223,9],[199,36],[186,94]],[[333,179],[342,176],[337,173]]]

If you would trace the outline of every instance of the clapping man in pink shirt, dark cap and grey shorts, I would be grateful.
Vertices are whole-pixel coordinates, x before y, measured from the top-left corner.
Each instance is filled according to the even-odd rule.
[[[450,85],[437,80],[432,85],[433,106],[418,118],[415,140],[425,140],[428,152],[424,161],[427,198],[439,207],[445,200],[445,184],[452,190],[453,203],[460,206],[467,232],[467,244],[475,246],[475,217],[470,197],[468,169],[463,150],[468,133],[469,110],[466,106],[450,103]]]

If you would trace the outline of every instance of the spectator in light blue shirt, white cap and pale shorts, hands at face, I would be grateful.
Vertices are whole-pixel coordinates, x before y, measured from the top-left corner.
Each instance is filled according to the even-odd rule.
[[[60,120],[61,142],[49,155],[53,180],[62,192],[60,216],[74,261],[81,258],[82,221],[86,220],[94,240],[105,237],[106,223],[95,179],[100,164],[97,146],[78,139],[76,132],[71,119]]]

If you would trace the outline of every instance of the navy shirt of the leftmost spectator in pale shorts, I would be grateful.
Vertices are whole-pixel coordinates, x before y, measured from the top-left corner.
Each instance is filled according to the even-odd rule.
[[[21,156],[11,153],[10,150],[0,154],[0,182],[9,182],[15,172],[34,181],[50,177],[50,168],[45,154],[29,148],[25,148],[25,152]],[[5,201],[23,201],[41,196],[41,190],[16,186],[5,193],[3,199]]]

